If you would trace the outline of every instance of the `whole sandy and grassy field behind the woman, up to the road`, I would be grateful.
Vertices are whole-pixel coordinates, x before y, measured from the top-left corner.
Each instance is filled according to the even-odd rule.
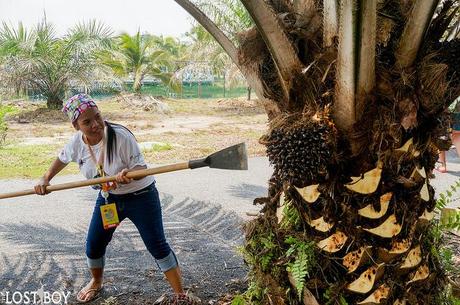
[[[160,110],[138,106],[127,98],[96,102],[104,119],[133,132],[149,164],[202,158],[241,142],[246,143],[249,156],[265,154],[258,140],[267,130],[267,116],[257,100],[165,99],[159,101]],[[9,151],[0,152],[0,168],[5,169],[0,177],[8,172],[18,178],[38,178],[75,130],[60,110],[46,109],[43,102],[2,103],[15,106],[17,112],[6,117]],[[37,148],[33,160],[27,159],[22,147]],[[7,159],[11,155],[16,156],[14,162]],[[23,164],[29,165],[24,168]],[[77,168],[67,167],[63,173],[77,173]]]

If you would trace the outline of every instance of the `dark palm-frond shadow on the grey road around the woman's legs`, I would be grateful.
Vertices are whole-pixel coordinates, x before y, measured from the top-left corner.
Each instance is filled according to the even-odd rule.
[[[221,206],[192,198],[161,195],[165,232],[175,250],[186,286],[206,303],[243,283],[246,266],[236,253],[243,220]],[[0,225],[0,291],[76,292],[89,279],[85,258],[86,227],[63,228],[43,217],[42,225]],[[119,304],[151,304],[169,291],[163,274],[131,221],[124,221],[107,249],[105,291]],[[237,285],[235,289],[242,286]]]

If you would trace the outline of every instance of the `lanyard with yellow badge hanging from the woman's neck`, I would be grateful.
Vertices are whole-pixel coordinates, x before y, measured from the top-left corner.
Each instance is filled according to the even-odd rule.
[[[99,161],[96,160],[96,156],[93,152],[93,149],[91,148],[91,145],[88,142],[88,138],[85,136],[86,139],[86,144],[88,145],[88,150],[89,154],[91,155],[91,159],[94,162],[94,165],[96,166],[96,169],[101,177],[105,176],[104,172],[104,157],[105,157],[105,146],[106,146],[106,130],[107,128],[104,128],[104,136],[102,138],[102,148],[101,152],[99,154]],[[101,216],[102,216],[102,224],[104,226],[104,229],[111,229],[115,228],[120,224],[120,221],[118,219],[118,213],[117,213],[117,207],[115,203],[109,203],[109,191],[112,189],[116,188],[116,183],[103,183],[102,184],[102,189],[101,189],[101,195],[105,199],[105,203],[101,204]]]

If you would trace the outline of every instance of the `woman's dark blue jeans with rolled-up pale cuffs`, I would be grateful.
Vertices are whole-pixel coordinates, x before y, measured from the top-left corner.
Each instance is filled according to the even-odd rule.
[[[165,238],[160,197],[155,183],[129,194],[110,194],[108,202],[116,203],[120,222],[129,218],[134,223],[147,250],[155,258],[161,271],[166,272],[177,267],[176,256]],[[89,268],[104,267],[105,250],[116,229],[105,230],[102,225],[100,206],[104,203],[105,199],[99,192],[86,239]]]

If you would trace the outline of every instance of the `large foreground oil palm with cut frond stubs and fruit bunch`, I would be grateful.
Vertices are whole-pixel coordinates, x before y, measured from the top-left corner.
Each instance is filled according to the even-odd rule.
[[[448,304],[429,178],[460,94],[459,40],[444,40],[456,1],[241,0],[255,26],[238,42],[175,1],[270,120],[244,302]]]

